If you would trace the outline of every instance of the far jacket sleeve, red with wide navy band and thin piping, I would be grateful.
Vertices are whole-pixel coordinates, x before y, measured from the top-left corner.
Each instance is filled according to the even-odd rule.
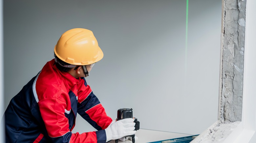
[[[107,116],[105,109],[94,95],[90,86],[87,85],[85,78],[81,78],[78,85],[78,107],[77,113],[88,121],[95,129],[106,129],[112,122],[112,119]]]

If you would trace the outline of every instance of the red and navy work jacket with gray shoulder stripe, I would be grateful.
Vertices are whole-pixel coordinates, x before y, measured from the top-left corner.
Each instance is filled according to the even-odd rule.
[[[72,134],[77,113],[98,131]],[[85,78],[59,71],[53,59],[11,99],[6,142],[105,143],[111,121]]]

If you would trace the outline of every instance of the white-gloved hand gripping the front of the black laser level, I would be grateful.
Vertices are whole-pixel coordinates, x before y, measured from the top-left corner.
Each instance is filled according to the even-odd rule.
[[[105,129],[107,141],[135,134],[135,122],[133,121],[134,119],[132,118],[112,121],[112,123]]]

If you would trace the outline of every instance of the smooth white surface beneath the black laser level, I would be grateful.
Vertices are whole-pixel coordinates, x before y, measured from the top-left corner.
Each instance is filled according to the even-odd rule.
[[[147,142],[154,142],[154,141],[190,136],[189,134],[162,132],[162,131],[154,131],[154,130],[146,130],[146,129],[139,129],[138,131],[136,131],[135,135],[138,137],[138,140],[136,140],[135,143],[147,143]],[[115,143],[115,140],[112,140],[109,143]],[[118,143],[132,143],[132,141],[118,140]]]

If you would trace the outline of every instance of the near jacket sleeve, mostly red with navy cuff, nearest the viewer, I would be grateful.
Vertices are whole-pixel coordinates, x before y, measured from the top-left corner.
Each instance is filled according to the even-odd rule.
[[[48,135],[54,143],[105,143],[105,130],[72,134],[65,117],[66,102],[58,98],[45,98],[38,102]]]

